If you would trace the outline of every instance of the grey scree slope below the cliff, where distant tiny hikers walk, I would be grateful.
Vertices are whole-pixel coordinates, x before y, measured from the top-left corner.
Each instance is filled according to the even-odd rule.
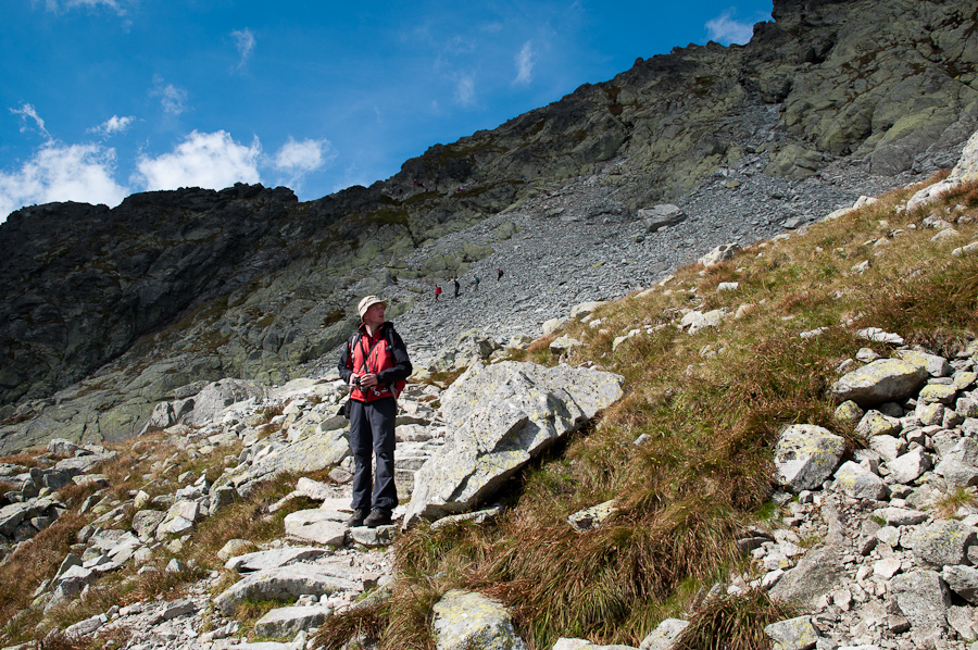
[[[522,204],[419,248],[409,264],[464,245],[491,246],[494,252],[466,264],[457,298],[450,271],[441,280],[402,279],[387,287],[385,297],[416,302],[392,316],[412,360],[427,367],[441,358],[438,367],[450,367],[453,360],[444,360],[446,350],[454,352],[459,337],[473,328],[500,347],[514,337],[536,338],[543,323],[566,318],[574,305],[650,287],[717,246],[762,241],[849,208],[861,196],[920,179],[912,173],[873,176],[865,165],[839,159],[793,183],[762,174],[767,162],[766,153],[751,154],[675,203],[629,214],[615,201],[624,163],[611,161],[601,173],[540,188]],[[498,279],[499,268],[503,276]],[[436,282],[443,290],[437,302]],[[351,287],[354,295],[356,289]],[[328,371],[331,362],[333,355],[318,360],[310,374]]]

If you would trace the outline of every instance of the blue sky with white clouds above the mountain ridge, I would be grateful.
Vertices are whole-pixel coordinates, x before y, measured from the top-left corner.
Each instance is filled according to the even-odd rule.
[[[396,174],[636,58],[744,43],[770,0],[2,0],[0,222],[237,182]]]

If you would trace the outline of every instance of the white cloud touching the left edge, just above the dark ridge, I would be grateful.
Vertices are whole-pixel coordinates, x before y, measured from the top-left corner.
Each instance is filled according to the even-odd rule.
[[[34,203],[82,201],[117,205],[128,193],[112,178],[115,150],[48,141],[20,170],[0,172],[0,221]]]

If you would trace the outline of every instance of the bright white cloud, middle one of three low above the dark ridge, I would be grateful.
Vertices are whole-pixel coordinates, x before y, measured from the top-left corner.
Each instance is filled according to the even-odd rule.
[[[259,183],[258,159],[262,146],[258,137],[250,147],[239,145],[230,134],[192,132],[172,153],[141,157],[136,167],[147,190],[178,187],[223,189],[235,183]]]

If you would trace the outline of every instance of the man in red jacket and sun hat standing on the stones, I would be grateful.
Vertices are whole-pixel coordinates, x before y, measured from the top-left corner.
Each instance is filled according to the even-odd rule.
[[[376,528],[391,523],[398,504],[394,485],[394,418],[398,395],[411,376],[411,360],[387,304],[376,296],[360,301],[361,325],[340,354],[337,370],[350,387],[350,449],[353,451],[353,516],[349,526]],[[373,453],[372,453],[373,452]],[[376,455],[377,474],[371,476]],[[367,514],[369,513],[369,514]]]

